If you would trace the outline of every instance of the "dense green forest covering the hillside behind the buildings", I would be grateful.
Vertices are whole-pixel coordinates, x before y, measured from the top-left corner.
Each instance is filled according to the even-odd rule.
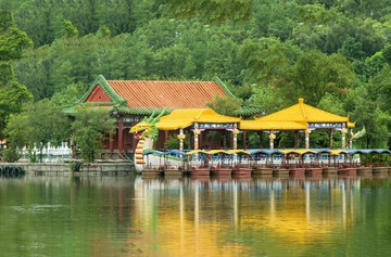
[[[93,79],[210,80],[269,114],[350,115],[390,145],[391,0],[0,0],[31,39],[12,61],[34,101],[73,104]]]

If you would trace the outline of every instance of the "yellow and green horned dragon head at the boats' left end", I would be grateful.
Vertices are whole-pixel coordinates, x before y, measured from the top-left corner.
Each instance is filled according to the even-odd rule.
[[[155,124],[160,120],[160,117],[162,117],[164,113],[165,110],[163,110],[162,113],[154,118],[153,116],[155,115],[155,111],[153,111],[152,115],[148,119],[146,117],[142,121],[131,127],[129,132],[134,133],[136,139],[154,139],[159,133]]]

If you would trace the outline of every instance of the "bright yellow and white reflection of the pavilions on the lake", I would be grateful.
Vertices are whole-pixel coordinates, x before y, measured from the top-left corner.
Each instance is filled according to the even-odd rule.
[[[149,234],[143,243],[169,256],[251,253],[254,242],[232,241],[248,230],[270,234],[269,244],[310,247],[354,222],[360,185],[351,178],[137,180],[136,222]]]

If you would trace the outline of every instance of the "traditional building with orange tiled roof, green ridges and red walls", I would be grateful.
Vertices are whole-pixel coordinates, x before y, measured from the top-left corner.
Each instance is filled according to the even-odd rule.
[[[228,88],[218,79],[214,81],[148,81],[106,80],[102,75],[92,82],[80,103],[92,103],[109,108],[116,118],[117,132],[104,142],[105,156],[123,158],[134,153],[136,140],[129,129],[149,116],[166,110],[203,110],[216,95],[235,99]],[[253,115],[260,108],[241,108],[238,115]],[[168,131],[160,131],[157,146],[169,137]],[[207,141],[204,139],[203,142]]]

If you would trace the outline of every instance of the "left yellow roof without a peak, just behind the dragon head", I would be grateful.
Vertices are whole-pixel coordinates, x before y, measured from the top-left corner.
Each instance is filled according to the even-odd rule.
[[[171,114],[161,117],[156,127],[160,130],[176,130],[190,127],[194,123],[228,124],[239,121],[240,118],[224,116],[211,108],[174,110]]]

